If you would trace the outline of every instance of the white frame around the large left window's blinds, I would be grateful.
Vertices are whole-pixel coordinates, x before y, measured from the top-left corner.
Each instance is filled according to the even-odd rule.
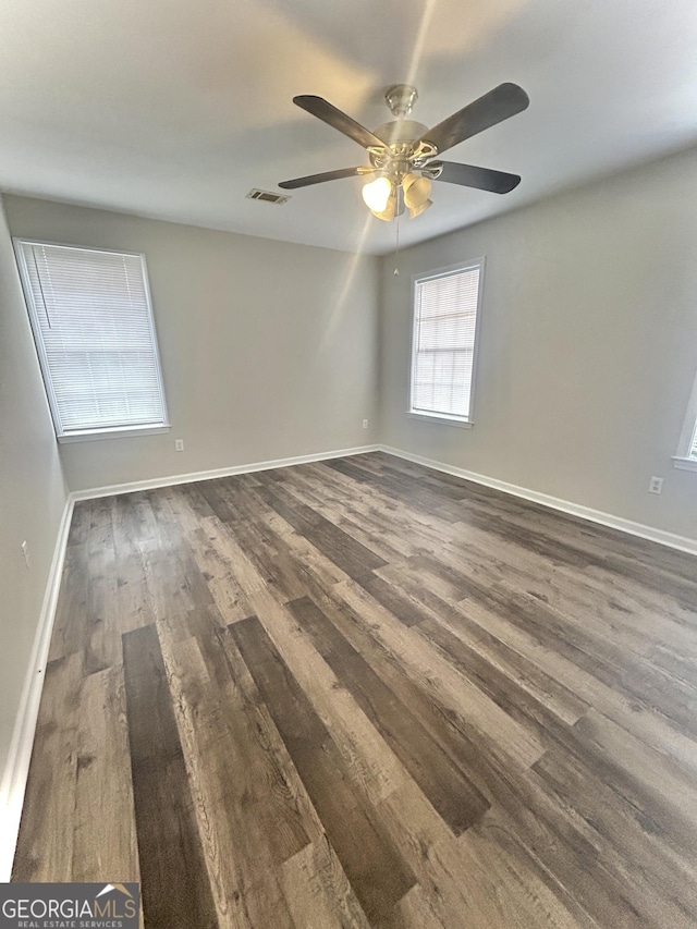
[[[53,421],[53,430],[56,432],[56,438],[58,442],[61,444],[70,443],[70,442],[87,442],[87,441],[97,441],[101,439],[115,439],[123,438],[129,436],[157,436],[163,432],[169,432],[171,429],[169,413],[167,410],[167,398],[164,395],[164,381],[162,378],[162,363],[160,360],[160,351],[158,345],[157,338],[157,329],[155,326],[155,310],[152,308],[152,297],[150,295],[150,281],[148,278],[148,269],[145,254],[143,252],[126,252],[121,248],[96,248],[89,245],[74,245],[66,242],[53,242],[41,239],[29,239],[26,236],[13,236],[12,243],[14,246],[15,259],[17,262],[17,269],[20,271],[20,280],[22,282],[22,290],[24,292],[24,300],[26,303],[27,314],[29,317],[29,325],[32,328],[32,335],[34,338],[34,344],[36,346],[36,354],[39,362],[39,367],[41,369],[41,378],[44,380],[44,388],[46,390],[46,396],[48,399],[48,404],[51,411],[51,419]],[[138,258],[140,261],[140,272],[143,274],[143,284],[145,291],[145,300],[148,311],[148,322],[149,322],[149,331],[151,337],[152,344],[152,355],[155,358],[155,367],[157,372],[157,383],[160,392],[160,399],[162,401],[162,423],[145,423],[145,424],[126,424],[123,426],[106,426],[103,428],[89,428],[89,429],[71,429],[65,431],[63,429],[60,412],[58,407],[58,400],[56,396],[56,391],[53,389],[53,379],[51,377],[51,369],[48,362],[48,355],[46,352],[46,346],[44,344],[44,338],[41,335],[41,328],[38,317],[38,307],[36,305],[36,300],[34,295],[34,291],[32,289],[29,282],[29,272],[26,265],[26,256],[22,248],[23,245],[46,245],[53,246],[57,248],[74,248],[78,252],[96,252],[96,253],[106,253],[109,255],[120,255],[127,258]]]

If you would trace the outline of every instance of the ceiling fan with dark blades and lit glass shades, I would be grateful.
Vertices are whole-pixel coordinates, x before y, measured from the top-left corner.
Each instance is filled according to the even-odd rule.
[[[449,148],[525,110],[530,100],[517,84],[499,84],[430,130],[406,119],[418,98],[416,87],[394,84],[388,88],[384,98],[395,119],[370,132],[322,97],[293,97],[293,102],[301,109],[362,145],[368,152],[370,164],[295,178],[283,181],[279,187],[292,191],[341,178],[370,178],[363,187],[366,206],[378,219],[390,222],[405,211],[414,218],[427,210],[432,203],[431,181],[445,181],[494,194],[508,194],[521,183],[518,174],[440,159]]]

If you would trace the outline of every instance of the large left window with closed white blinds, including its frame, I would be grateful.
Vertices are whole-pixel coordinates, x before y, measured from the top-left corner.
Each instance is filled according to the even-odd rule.
[[[169,428],[145,259],[15,240],[59,441]]]

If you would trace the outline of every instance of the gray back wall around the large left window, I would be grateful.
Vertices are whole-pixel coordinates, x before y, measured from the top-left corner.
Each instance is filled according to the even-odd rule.
[[[146,255],[172,430],[61,445],[71,490],[377,440],[377,258],[38,199],[5,204],[13,235]]]

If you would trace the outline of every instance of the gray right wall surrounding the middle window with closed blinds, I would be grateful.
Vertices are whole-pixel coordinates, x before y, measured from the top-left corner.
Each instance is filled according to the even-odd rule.
[[[398,278],[386,258],[381,440],[697,537],[697,474],[671,462],[697,367],[696,188],[693,150],[415,246]],[[414,421],[412,276],[481,255],[476,425]]]

